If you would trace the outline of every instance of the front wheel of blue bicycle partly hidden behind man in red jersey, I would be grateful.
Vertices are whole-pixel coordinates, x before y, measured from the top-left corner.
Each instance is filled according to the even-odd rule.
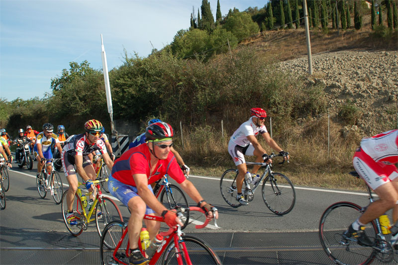
[[[169,184],[169,190],[166,190],[166,187],[163,188],[160,194],[160,202],[169,210],[177,208],[189,209],[190,207],[184,192],[174,184]],[[189,211],[186,211],[184,216],[181,217],[181,221],[184,224],[181,229],[187,227],[189,220]]]

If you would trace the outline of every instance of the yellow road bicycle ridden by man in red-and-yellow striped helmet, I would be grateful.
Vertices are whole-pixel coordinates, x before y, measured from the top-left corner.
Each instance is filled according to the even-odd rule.
[[[80,186],[85,185],[85,184],[78,182],[79,186],[78,186],[78,189],[75,194],[76,198],[74,198],[75,200],[72,205],[73,213],[77,220],[76,225],[71,225],[70,223],[68,223],[68,221],[66,219],[66,213],[68,211],[68,204],[67,204],[66,196],[68,194],[68,191],[64,192],[64,195],[62,196],[62,203],[61,203],[62,217],[64,219],[66,228],[72,235],[74,235],[76,237],[79,236],[80,234],[82,234],[83,231],[87,230],[88,224],[93,221],[96,221],[97,231],[98,231],[98,234],[100,234],[100,236],[102,235],[102,230],[111,221],[120,220],[121,222],[123,222],[123,217],[122,217],[117,205],[112,201],[112,199],[102,195],[102,192],[100,189],[100,183],[106,182],[106,181],[108,181],[107,178],[93,181],[94,185],[97,187],[98,192],[96,195],[96,199],[94,200],[90,209],[86,209],[87,200],[90,200],[90,196],[89,196],[90,193],[87,194],[87,196],[86,196],[87,200],[83,201],[84,202],[84,205],[83,205],[82,200],[81,200],[82,190],[81,190]]]

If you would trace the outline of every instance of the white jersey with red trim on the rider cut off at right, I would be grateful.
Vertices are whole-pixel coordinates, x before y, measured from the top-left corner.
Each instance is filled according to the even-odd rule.
[[[398,157],[398,130],[377,134],[361,141],[362,150],[373,160],[396,163]]]

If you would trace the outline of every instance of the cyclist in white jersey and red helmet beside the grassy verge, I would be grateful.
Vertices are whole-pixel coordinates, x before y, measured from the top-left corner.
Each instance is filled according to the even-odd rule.
[[[256,136],[260,133],[267,144],[274,148],[276,151],[283,154],[284,159],[289,159],[289,153],[285,152],[279,145],[271,138],[267,128],[264,125],[264,119],[267,117],[265,110],[261,108],[253,108],[250,110],[251,118],[243,123],[238,130],[236,130],[228,143],[228,152],[232,156],[236,167],[239,170],[238,177],[236,179],[236,188],[238,195],[236,200],[242,205],[248,205],[249,203],[245,200],[242,195],[242,184],[243,178],[247,172],[246,161],[244,155],[255,155],[256,162],[267,161],[272,163],[272,160],[268,158],[268,154],[261,144],[257,141]],[[260,166],[253,167],[253,174],[256,174]]]

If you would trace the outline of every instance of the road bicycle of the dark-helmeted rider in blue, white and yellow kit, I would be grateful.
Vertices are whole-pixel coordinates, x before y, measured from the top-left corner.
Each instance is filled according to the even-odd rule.
[[[61,160],[61,158],[45,159],[40,175],[36,176],[36,186],[40,198],[44,199],[47,195],[47,190],[49,190],[56,204],[61,203],[62,194],[64,192],[64,185],[62,184],[61,176],[54,168],[54,163],[58,160]],[[50,161],[50,175],[47,173],[47,161]]]

